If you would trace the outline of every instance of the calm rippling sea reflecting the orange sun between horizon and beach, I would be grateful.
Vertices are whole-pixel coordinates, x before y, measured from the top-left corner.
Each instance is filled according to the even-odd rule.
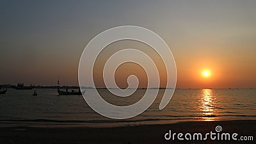
[[[86,104],[82,95],[57,95],[56,89],[8,89],[0,95],[0,126],[116,127],[122,125],[167,124],[191,120],[256,119],[256,89],[175,90],[172,100],[159,110],[164,90],[144,113],[127,120],[101,116]],[[90,94],[86,90],[86,95]],[[115,97],[108,90],[99,93],[112,104],[127,106],[141,99],[145,90],[131,97]],[[125,113],[125,111],[124,111]]]

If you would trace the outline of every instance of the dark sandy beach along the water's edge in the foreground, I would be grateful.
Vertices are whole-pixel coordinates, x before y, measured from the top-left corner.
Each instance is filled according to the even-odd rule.
[[[253,141],[225,141],[225,140],[165,140],[164,134],[170,129],[172,132],[191,134],[200,132],[216,132],[217,125],[221,132],[234,132],[239,136],[253,136]],[[205,136],[204,136],[205,137]],[[256,143],[256,120],[232,120],[212,122],[180,122],[164,125],[138,125],[130,127],[86,128],[86,127],[1,127],[0,143]]]

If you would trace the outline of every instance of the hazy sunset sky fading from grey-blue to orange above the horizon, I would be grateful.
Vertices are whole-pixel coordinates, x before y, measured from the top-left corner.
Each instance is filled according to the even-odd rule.
[[[133,25],[154,31],[168,44],[177,88],[256,88],[256,1],[0,3],[0,84],[56,85],[60,77],[61,85],[78,85],[86,44],[109,28]],[[202,76],[204,70],[211,76]],[[116,83],[127,86],[132,72],[144,87],[145,72],[131,63],[116,70]],[[160,77],[164,86],[164,72]],[[103,87],[100,76],[95,81]]]

